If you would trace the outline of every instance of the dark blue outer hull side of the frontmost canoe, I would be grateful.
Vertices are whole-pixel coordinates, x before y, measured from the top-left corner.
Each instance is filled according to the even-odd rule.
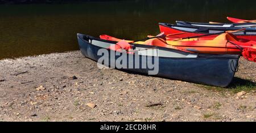
[[[78,41],[81,53],[86,57],[98,61],[102,56],[97,55],[98,50],[101,48],[92,45],[84,37],[93,37],[78,34]],[[106,40],[102,40],[106,41]],[[141,46],[141,45],[140,45]],[[145,46],[146,48],[148,46]],[[166,49],[166,48],[160,48]],[[126,54],[126,53],[123,53]],[[202,55],[204,56],[204,55]],[[115,55],[111,58],[109,55],[109,61],[116,61],[119,55]],[[127,58],[133,58],[133,61],[127,61],[127,66],[129,63],[134,63],[135,55],[127,54]],[[139,66],[146,64],[148,61],[145,58],[152,59],[153,57],[139,55]],[[189,81],[193,83],[201,83],[207,85],[214,85],[220,87],[226,87],[232,81],[235,70],[237,68],[239,55],[212,55],[201,58],[167,58],[159,57],[159,71],[158,74],[154,76],[160,76],[164,78],[177,79],[183,81]],[[152,61],[152,60],[151,60]],[[105,65],[105,64],[104,64]],[[110,66],[113,67],[113,66]],[[139,72],[148,75],[151,68],[121,68],[122,70],[128,70],[133,72]]]

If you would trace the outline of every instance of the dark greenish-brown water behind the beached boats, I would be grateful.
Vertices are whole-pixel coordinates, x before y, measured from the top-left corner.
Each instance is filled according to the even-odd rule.
[[[0,59],[78,50],[76,33],[138,39],[158,22],[256,19],[256,1],[144,0],[63,5],[0,5]]]

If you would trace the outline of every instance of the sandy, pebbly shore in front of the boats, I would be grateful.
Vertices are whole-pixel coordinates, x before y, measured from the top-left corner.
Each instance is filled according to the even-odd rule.
[[[241,58],[218,88],[100,70],[79,51],[4,59],[0,121],[256,121],[255,68]]]

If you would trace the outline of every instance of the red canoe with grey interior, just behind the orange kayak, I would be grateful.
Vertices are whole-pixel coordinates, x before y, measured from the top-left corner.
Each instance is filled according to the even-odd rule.
[[[203,27],[188,27],[185,25],[174,25],[167,23],[159,23],[160,32],[164,32],[165,35],[173,35],[173,38],[185,38],[185,37],[194,37],[202,36],[201,40],[204,38],[214,38],[225,33],[225,31],[234,31],[238,28],[203,28]],[[220,34],[218,34],[220,33]],[[204,36],[205,35],[205,36]],[[255,28],[246,28],[244,31],[234,33],[237,38],[256,41],[256,30]]]

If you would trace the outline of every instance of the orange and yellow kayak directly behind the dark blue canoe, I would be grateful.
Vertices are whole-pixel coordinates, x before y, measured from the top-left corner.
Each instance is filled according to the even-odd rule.
[[[151,37],[151,36],[150,36]],[[121,41],[119,38],[115,38],[108,35],[101,35],[100,38],[110,41]],[[127,40],[127,42],[134,42]],[[245,49],[249,49],[250,55],[256,55],[256,42],[246,39],[237,38],[231,33],[222,33],[215,38],[189,38],[189,39],[176,39],[168,40],[167,38],[152,38],[146,41],[134,42],[135,44],[154,45],[172,49],[179,49],[192,53],[204,53],[204,54],[239,54]],[[252,50],[250,50],[252,49]],[[248,53],[246,53],[248,55]],[[251,60],[251,59],[250,59]],[[252,59],[254,61],[254,58]]]

